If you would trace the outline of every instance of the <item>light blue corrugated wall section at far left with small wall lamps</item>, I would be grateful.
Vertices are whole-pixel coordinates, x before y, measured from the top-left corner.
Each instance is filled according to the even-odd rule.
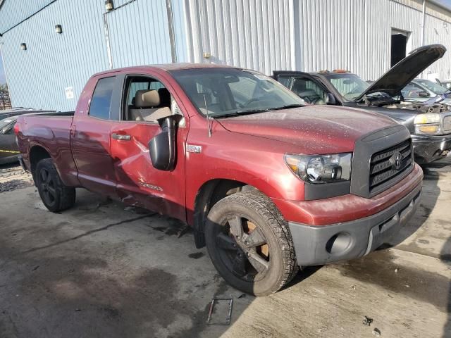
[[[89,76],[108,68],[103,11],[104,1],[75,6],[58,0],[4,34],[1,51],[13,106],[75,108]],[[63,27],[61,35],[55,32],[57,24]],[[20,49],[22,42],[26,51]],[[74,99],[66,99],[66,87],[73,87]]]

